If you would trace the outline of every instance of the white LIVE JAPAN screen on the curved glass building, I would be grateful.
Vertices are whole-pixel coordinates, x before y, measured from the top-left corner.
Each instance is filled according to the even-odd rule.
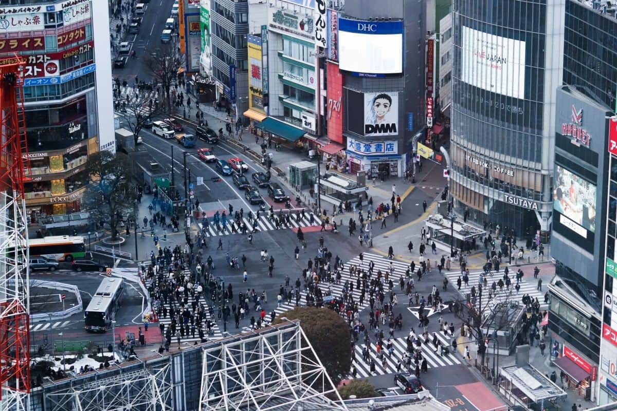
[[[525,42],[463,26],[461,78],[481,89],[524,98]]]

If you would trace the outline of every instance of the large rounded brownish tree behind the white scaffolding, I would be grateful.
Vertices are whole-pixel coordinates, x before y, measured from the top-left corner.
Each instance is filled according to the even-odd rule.
[[[321,364],[334,385],[338,384],[341,376],[347,375],[351,367],[351,340],[347,322],[333,310],[318,307],[296,307],[283,312],[274,324],[283,322],[282,317],[300,320],[300,327]]]

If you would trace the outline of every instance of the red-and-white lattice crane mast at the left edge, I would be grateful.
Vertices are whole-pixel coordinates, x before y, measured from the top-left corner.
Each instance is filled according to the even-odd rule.
[[[24,63],[0,59],[0,409],[17,411],[28,409],[30,393]]]

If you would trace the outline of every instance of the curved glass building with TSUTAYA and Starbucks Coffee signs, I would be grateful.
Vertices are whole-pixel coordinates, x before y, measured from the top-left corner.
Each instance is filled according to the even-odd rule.
[[[519,236],[550,230],[564,7],[453,2],[450,185],[468,221]]]

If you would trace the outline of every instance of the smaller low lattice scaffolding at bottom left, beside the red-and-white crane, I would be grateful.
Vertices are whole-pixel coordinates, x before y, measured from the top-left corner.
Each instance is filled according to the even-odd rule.
[[[46,393],[50,411],[172,410],[171,365],[142,368]]]

